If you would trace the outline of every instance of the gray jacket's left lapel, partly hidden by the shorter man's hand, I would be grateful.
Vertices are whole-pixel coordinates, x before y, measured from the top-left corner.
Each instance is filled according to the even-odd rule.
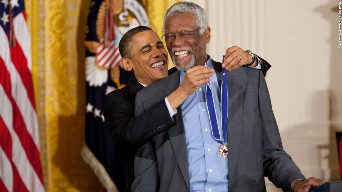
[[[172,74],[172,78],[167,87],[165,97],[179,87],[179,76],[180,71],[176,71],[174,72],[174,74]],[[188,190],[190,190],[188,158],[181,106],[177,108],[177,112],[178,113],[175,115],[175,125],[174,127],[168,129],[167,132],[170,137],[171,145],[174,150],[178,166],[181,169],[183,179],[185,180]]]

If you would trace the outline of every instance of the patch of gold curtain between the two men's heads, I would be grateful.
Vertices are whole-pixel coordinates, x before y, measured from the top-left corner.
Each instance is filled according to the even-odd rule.
[[[158,36],[164,34],[163,32],[163,20],[166,11],[177,2],[181,0],[145,0],[146,2],[146,12],[148,19],[150,21],[150,27],[157,32]],[[166,48],[166,44],[164,44]],[[173,68],[174,65],[169,56],[169,69]]]

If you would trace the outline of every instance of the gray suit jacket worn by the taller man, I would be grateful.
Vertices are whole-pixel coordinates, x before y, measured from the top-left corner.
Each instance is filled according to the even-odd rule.
[[[221,63],[213,61],[213,65],[222,81]],[[143,113],[177,89],[179,76],[177,71],[138,92],[135,114]],[[266,191],[264,176],[283,191],[292,191],[291,182],[305,177],[282,149],[262,72],[244,67],[227,72],[227,86],[229,191]],[[181,107],[177,112],[173,127],[136,151],[132,191],[189,191]]]

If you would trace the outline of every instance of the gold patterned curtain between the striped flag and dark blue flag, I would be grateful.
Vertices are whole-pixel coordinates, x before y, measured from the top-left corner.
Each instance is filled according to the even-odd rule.
[[[26,0],[32,77],[47,191],[103,191],[80,155],[84,144],[89,1]]]

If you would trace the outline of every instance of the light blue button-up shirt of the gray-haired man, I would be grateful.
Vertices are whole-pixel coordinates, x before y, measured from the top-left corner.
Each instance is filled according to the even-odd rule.
[[[207,65],[213,68],[210,56]],[[180,85],[185,72],[181,71]],[[210,77],[217,115],[220,114],[220,86],[216,71]],[[205,103],[206,85],[201,85],[181,105],[188,155],[190,191],[228,191],[228,158],[218,154],[218,143],[211,134]],[[221,117],[218,117],[221,127]]]

